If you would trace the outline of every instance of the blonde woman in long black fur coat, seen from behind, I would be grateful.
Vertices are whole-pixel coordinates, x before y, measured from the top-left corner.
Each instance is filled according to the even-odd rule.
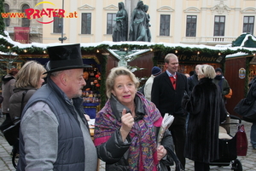
[[[199,83],[190,97],[183,97],[183,108],[190,114],[185,157],[195,161],[195,171],[209,170],[209,162],[218,159],[218,127],[226,110],[218,86],[212,83],[214,77],[212,66],[200,66]]]

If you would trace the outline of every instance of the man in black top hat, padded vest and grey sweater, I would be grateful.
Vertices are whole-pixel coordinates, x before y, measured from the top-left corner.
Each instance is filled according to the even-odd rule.
[[[79,44],[49,47],[47,83],[27,102],[20,123],[17,170],[95,171],[96,148],[82,108]]]

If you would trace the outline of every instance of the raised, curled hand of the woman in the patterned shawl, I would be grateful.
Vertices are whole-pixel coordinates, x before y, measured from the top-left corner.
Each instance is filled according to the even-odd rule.
[[[122,140],[125,141],[127,135],[130,133],[132,126],[134,125],[134,118],[131,113],[126,113],[126,109],[122,111],[121,117],[122,125],[120,128],[120,133],[122,135]]]

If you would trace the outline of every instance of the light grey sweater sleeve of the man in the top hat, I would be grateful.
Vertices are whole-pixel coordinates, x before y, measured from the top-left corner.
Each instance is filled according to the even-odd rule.
[[[26,171],[53,170],[58,151],[58,125],[55,114],[44,102],[27,109],[20,123],[25,142]]]

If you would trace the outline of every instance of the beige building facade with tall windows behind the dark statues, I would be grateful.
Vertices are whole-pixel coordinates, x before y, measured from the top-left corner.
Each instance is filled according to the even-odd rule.
[[[30,35],[35,37],[31,41],[39,43],[112,41],[119,2],[125,3],[130,18],[138,0],[5,0],[10,12],[21,12],[24,4],[39,9],[30,16]],[[144,0],[143,3],[149,7],[152,43],[228,44],[242,32],[255,34],[256,0]],[[10,34],[13,26],[22,26],[22,19],[10,19],[10,26],[6,27]]]

